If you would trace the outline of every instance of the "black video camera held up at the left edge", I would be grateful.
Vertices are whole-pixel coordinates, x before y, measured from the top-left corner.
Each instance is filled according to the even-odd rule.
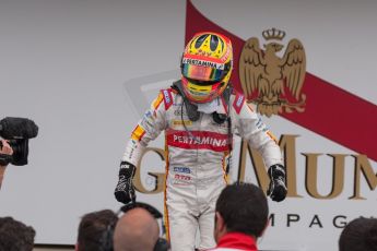
[[[7,117],[0,120],[0,136],[8,140],[13,150],[12,155],[0,154],[0,165],[9,163],[15,166],[27,164],[28,140],[37,136],[38,127],[33,120],[26,118]],[[0,147],[2,144],[0,142]]]

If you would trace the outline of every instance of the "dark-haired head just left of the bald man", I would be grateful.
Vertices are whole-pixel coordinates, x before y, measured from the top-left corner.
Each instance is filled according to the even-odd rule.
[[[113,234],[118,220],[110,210],[85,214],[79,225],[76,251],[110,251]]]

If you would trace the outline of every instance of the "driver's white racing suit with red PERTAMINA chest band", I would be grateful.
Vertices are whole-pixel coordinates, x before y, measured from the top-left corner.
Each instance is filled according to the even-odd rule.
[[[224,98],[221,103],[216,112],[229,109],[232,134],[237,130],[248,140],[267,167],[282,164],[280,147],[244,96],[232,94],[228,103]],[[214,210],[226,186],[229,135],[232,139],[228,121],[219,124],[203,112],[198,121],[190,121],[182,97],[173,88],[163,89],[133,130],[122,160],[137,166],[142,150],[161,131],[165,131],[165,223],[172,250],[195,250],[198,227],[199,249],[214,248]]]

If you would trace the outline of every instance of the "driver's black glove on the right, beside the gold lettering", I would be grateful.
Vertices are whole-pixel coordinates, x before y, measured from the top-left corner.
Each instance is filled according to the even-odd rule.
[[[267,195],[271,196],[272,201],[281,202],[286,196],[285,186],[285,168],[280,165],[272,165],[269,168],[270,186]]]

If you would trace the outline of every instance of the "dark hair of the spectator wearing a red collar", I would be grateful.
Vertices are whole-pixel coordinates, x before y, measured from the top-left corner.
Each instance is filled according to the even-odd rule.
[[[260,237],[266,228],[269,206],[263,191],[251,183],[227,186],[216,202],[216,212],[224,218],[227,231]]]

